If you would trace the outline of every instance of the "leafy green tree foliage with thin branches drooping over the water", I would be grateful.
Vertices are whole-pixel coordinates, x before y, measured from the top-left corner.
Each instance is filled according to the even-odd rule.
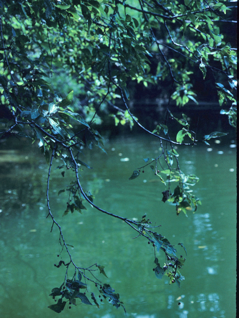
[[[53,311],[60,313],[67,303],[68,307],[77,305],[77,298],[92,305],[89,295],[99,307],[91,291],[94,286],[113,306],[123,307],[119,294],[95,277],[95,269],[107,277],[104,266],[96,263],[82,268],[72,259],[50,208],[51,167],[58,158],[62,159],[58,168],[63,176],[68,169],[75,172],[72,184],[58,189],[59,195],[64,191],[69,193],[64,215],[82,213],[89,203],[100,212],[122,220],[137,236],[144,236],[152,243],[156,277],[161,279],[166,273],[170,283],[180,286],[184,277],[179,269],[185,258],[178,257],[175,247],[154,232],[156,227],[150,225],[146,215],[136,222],[105,211],[94,204],[90,189],[82,188],[79,171],[82,167],[91,168],[82,161],[82,153],[85,147],[91,149],[94,145],[104,151],[97,128],[104,120],[114,120],[116,125],[129,124],[131,128],[136,123],[158,139],[161,151],[156,158],[143,159],[144,165],[135,168],[129,179],[150,167],[155,178],[162,181],[163,202],[171,201],[177,215],[181,211],[185,215],[196,211],[201,202],[191,187],[199,178],[180,169],[179,153],[174,146],[208,144],[211,138],[226,133],[205,132],[204,138],[197,140],[187,115],[177,118],[170,107],[165,111],[165,120],[149,131],[128,106],[128,85],[132,81],[143,82],[146,87],[149,83],[166,82],[169,97],[182,107],[188,101],[197,103],[193,70],[201,70],[203,79],[210,70],[219,104],[224,106],[222,113],[236,126],[236,49],[220,32],[222,23],[235,22],[231,21],[234,8],[230,4],[227,0],[0,1],[0,138],[23,136],[39,142],[49,163],[47,217],[52,219],[51,230],[54,225],[58,227],[59,244],[69,255],[68,262],[61,259],[56,265],[65,266],[66,274],[61,287],[54,288],[50,294],[54,299],[60,296],[49,307]],[[152,65],[157,66],[152,69]],[[119,104],[116,106],[116,99],[121,99],[121,108]],[[175,137],[170,136],[170,121],[179,127]],[[185,249],[182,243],[179,245]],[[159,249],[165,253],[161,266],[156,257]],[[72,276],[69,268],[73,268]]]

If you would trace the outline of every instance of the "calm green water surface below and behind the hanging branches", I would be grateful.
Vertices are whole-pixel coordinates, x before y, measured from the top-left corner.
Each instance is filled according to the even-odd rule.
[[[45,159],[34,148],[27,153],[25,142],[0,150],[0,317],[2,318],[121,318],[124,312],[107,301],[96,306],[79,305],[56,314],[47,307],[48,295],[64,280],[59,262],[59,232],[46,219]],[[183,242],[187,259],[181,273],[181,288],[169,285],[167,277],[153,272],[152,245],[118,219],[89,205],[83,214],[62,218],[65,193],[58,191],[70,182],[53,166],[51,208],[61,224],[75,262],[87,267],[105,266],[110,283],[120,294],[127,317],[132,318],[234,318],[236,317],[236,148],[211,146],[177,149],[181,169],[194,173],[200,182],[194,187],[202,200],[196,213],[176,216],[175,207],[161,201],[165,190],[149,169],[128,180],[143,158],[154,158],[160,145],[141,136],[106,142],[108,155],[97,149],[85,152],[81,182],[95,195],[94,203],[123,217],[140,220],[144,213],[160,224],[159,233],[172,244]],[[212,151],[207,151],[212,148]],[[3,149],[3,148],[2,148]],[[15,150],[14,150],[15,149]],[[179,253],[184,255],[178,246]],[[63,253],[63,257],[65,254]],[[156,255],[164,262],[163,253]],[[67,260],[67,258],[65,259]],[[90,287],[98,297],[99,293]],[[90,297],[89,297],[90,298]],[[180,305],[178,303],[180,302]],[[60,317],[59,316],[59,317]]]

